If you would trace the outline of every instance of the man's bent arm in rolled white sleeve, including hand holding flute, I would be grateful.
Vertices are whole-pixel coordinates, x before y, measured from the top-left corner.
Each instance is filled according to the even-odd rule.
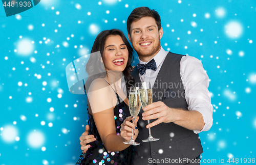
[[[142,119],[158,119],[147,125],[147,128],[162,122],[174,122],[184,128],[194,130],[195,133],[210,129],[213,107],[210,104],[208,91],[209,78],[202,63],[194,57],[183,57],[180,74],[189,111],[167,107],[161,101],[147,105],[144,108],[146,112],[142,114]]]

